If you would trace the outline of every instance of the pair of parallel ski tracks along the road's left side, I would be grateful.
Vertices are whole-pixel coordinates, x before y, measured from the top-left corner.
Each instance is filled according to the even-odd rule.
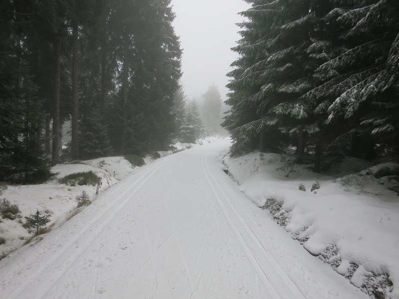
[[[26,292],[26,288],[36,285],[37,277],[45,272],[46,269],[52,269],[52,264],[63,261],[61,271],[57,272],[44,287],[40,288],[40,291],[33,297],[34,299],[43,298],[48,291],[58,282],[62,275],[71,267],[71,264],[76,261],[79,256],[93,243],[96,237],[102,232],[102,230],[116,217],[116,215],[125,207],[125,205],[132,200],[132,197],[143,187],[143,185],[170,159],[174,156],[166,157],[158,165],[148,170],[141,178],[139,178],[133,185],[131,185],[125,192],[118,196],[113,202],[113,206],[110,210],[104,209],[102,213],[93,218],[79,233],[77,233],[67,244],[65,244],[59,251],[57,251],[48,261],[41,265],[30,277],[18,286],[8,297],[8,299],[18,299]],[[106,217],[106,220],[98,225],[100,219]],[[89,232],[92,230],[91,232]],[[82,238],[84,234],[88,233],[88,236]],[[78,242],[79,241],[79,242]],[[75,243],[79,244],[78,249],[69,250]],[[66,252],[73,252],[72,255],[65,255]],[[25,294],[26,295],[26,294]]]

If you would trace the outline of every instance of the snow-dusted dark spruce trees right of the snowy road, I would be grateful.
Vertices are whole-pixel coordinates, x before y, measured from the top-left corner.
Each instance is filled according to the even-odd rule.
[[[222,123],[232,153],[287,153],[320,172],[399,156],[399,1],[246,0]]]

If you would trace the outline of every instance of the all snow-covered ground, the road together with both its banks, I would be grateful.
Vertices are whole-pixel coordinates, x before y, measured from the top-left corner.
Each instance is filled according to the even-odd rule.
[[[335,245],[338,272],[360,266],[352,284],[359,286],[370,271],[389,274],[391,298],[399,298],[398,197],[387,190],[387,177],[375,183],[367,175],[366,183],[344,179],[356,182],[349,186],[304,167],[285,177],[276,171],[283,164],[280,155],[229,158],[228,139],[201,144],[147,158],[152,163],[135,169],[113,157],[53,170],[57,177],[93,170],[103,182],[97,197],[95,186],[55,180],[8,187],[1,198],[17,203],[23,215],[39,208],[58,222],[41,241],[0,261],[0,298],[369,298],[260,209],[267,199],[282,209],[285,216],[278,219],[285,219],[287,231],[299,231],[293,235],[309,252],[323,255]],[[239,185],[223,171],[226,165]],[[336,169],[339,176],[344,171]],[[320,189],[310,192],[316,180]],[[298,190],[300,183],[307,191]],[[59,226],[82,188],[96,199]],[[4,223],[21,227],[17,219]],[[338,260],[334,254],[329,258]]]

